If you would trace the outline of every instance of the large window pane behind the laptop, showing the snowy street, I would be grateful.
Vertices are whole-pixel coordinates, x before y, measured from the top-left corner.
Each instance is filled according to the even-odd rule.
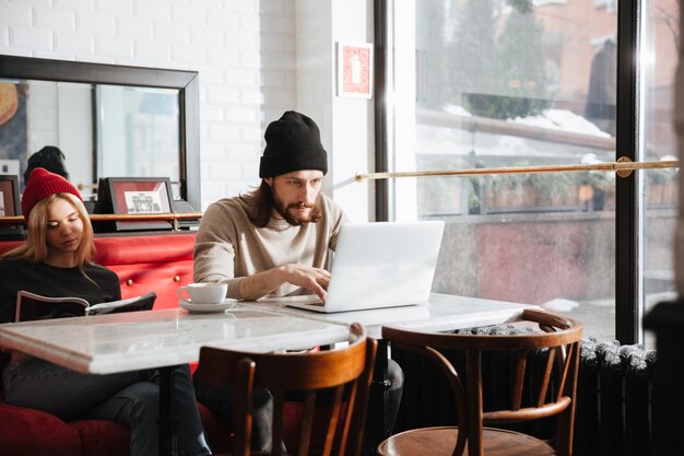
[[[617,14],[594,3],[390,3],[390,171],[614,161]],[[391,219],[447,223],[433,291],[541,304],[614,337],[613,174],[389,188]]]

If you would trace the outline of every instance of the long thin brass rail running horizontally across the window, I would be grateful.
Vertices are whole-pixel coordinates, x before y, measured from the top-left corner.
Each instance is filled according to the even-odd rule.
[[[677,160],[658,162],[632,162],[626,156],[621,156],[616,162],[603,162],[591,164],[573,165],[544,165],[544,166],[511,166],[511,167],[480,167],[468,169],[445,171],[404,171],[393,173],[366,173],[356,174],[354,179],[358,183],[364,180],[389,179],[397,177],[434,177],[434,176],[472,176],[483,174],[521,174],[521,173],[555,173],[567,171],[608,171],[615,172],[620,177],[627,177],[634,169],[652,169],[679,167]]]

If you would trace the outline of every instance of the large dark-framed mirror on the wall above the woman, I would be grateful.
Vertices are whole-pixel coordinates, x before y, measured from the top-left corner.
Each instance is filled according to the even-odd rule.
[[[102,177],[168,177],[174,211],[200,207],[198,73],[0,56],[0,174],[23,183],[44,145],[95,199]]]

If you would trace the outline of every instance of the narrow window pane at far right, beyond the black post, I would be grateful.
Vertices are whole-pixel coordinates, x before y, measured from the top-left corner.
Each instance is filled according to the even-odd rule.
[[[644,72],[640,156],[676,160],[673,128],[674,80],[679,47],[676,0],[650,0],[640,61]],[[674,299],[672,242],[676,221],[677,169],[648,169],[642,176],[642,301],[651,305]],[[647,335],[647,344],[654,346]]]

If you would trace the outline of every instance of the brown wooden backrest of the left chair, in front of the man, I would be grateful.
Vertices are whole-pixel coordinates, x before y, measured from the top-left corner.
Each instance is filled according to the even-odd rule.
[[[334,451],[340,456],[356,456],[362,447],[376,351],[377,341],[366,337],[363,326],[353,324],[349,346],[337,350],[247,353],[203,347],[196,376],[208,385],[234,388],[234,456],[250,453],[251,394],[258,388],[273,395],[272,455],[282,453],[285,395],[295,393],[302,398],[297,454],[316,451],[328,456]],[[325,425],[317,422],[323,421],[321,410]],[[312,435],[315,429],[323,435]],[[322,448],[311,448],[315,441],[322,442]]]

